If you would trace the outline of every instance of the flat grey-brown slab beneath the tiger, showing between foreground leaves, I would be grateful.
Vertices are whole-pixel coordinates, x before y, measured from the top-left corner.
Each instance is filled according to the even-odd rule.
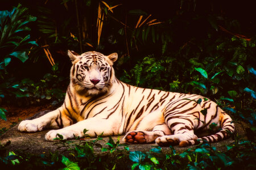
[[[34,119],[36,117],[40,117],[43,114],[48,113],[49,111],[43,111],[36,113],[34,116],[28,118],[28,120]],[[244,123],[235,123],[236,131],[239,135],[245,137],[245,131],[244,128],[247,128],[248,125]],[[27,152],[28,154],[49,154],[49,152],[55,152],[56,150],[60,153],[64,153],[64,148],[59,148],[60,145],[53,145],[55,142],[49,142],[44,139],[44,135],[49,130],[44,130],[36,133],[22,133],[17,130],[18,125],[15,125],[13,128],[6,131],[5,134],[3,134],[0,137],[0,143],[3,145],[8,141],[11,141],[11,144],[7,146],[7,150],[10,151],[16,151],[16,152]],[[123,136],[120,137],[122,139]],[[112,137],[113,140],[116,142],[118,137]],[[93,139],[92,139],[93,140]],[[72,140],[74,143],[78,143],[78,140]],[[104,146],[105,143],[109,141],[108,137],[103,138],[102,141],[99,141],[99,143]],[[234,142],[232,138],[226,139],[221,142],[212,143],[212,146],[216,147],[218,151],[226,151],[226,145],[229,145],[230,143]],[[152,147],[157,146],[155,143],[153,144],[138,144],[138,145],[129,145],[130,151],[142,151],[146,152],[149,151]],[[182,152],[184,150],[187,150],[188,148],[193,148],[195,146],[189,146],[181,148],[179,146],[175,146],[175,150],[177,153]],[[163,152],[166,153],[170,150],[170,147],[162,147]],[[96,153],[100,153],[100,148],[95,148],[94,150]]]

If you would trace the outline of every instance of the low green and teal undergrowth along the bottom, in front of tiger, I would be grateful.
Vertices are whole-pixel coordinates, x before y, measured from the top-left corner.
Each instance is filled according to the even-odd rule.
[[[226,152],[217,151],[209,143],[189,148],[177,153],[170,146],[163,153],[163,148],[152,147],[150,151],[130,151],[129,146],[116,142],[109,137],[105,145],[96,139],[89,139],[84,130],[79,141],[66,141],[61,135],[55,138],[58,148],[49,154],[31,155],[26,152],[7,151],[0,145],[1,168],[13,169],[255,169],[256,145],[254,142],[235,137],[235,141],[226,146]],[[58,152],[60,148],[61,153]],[[100,151],[101,150],[101,151]]]

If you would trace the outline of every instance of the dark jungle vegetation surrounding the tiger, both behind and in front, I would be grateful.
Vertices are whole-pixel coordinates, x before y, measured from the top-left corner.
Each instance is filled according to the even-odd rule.
[[[173,148],[163,156],[160,147],[147,153],[124,147],[126,154],[120,155],[119,143],[110,138],[109,148],[102,150],[113,160],[94,155],[93,142],[72,147],[71,158],[57,153],[37,158],[6,151],[2,143],[1,166],[115,169],[121,159],[126,169],[255,169],[256,14],[250,1],[0,3],[1,105],[60,105],[69,83],[67,50],[95,50],[118,53],[115,73],[125,83],[200,94],[216,101],[234,121],[250,124],[244,129],[247,139],[235,137],[225,153],[206,143],[182,154]],[[1,105],[0,118],[6,120],[8,111]]]

